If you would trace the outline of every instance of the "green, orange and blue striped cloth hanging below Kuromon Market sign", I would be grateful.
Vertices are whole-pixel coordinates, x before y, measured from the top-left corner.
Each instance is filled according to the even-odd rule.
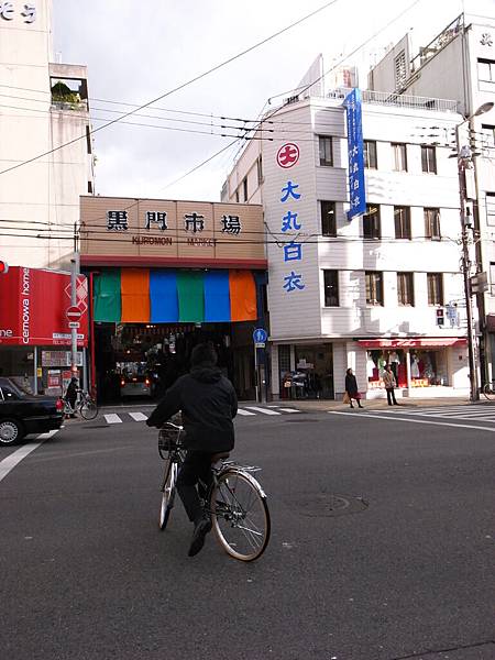
[[[254,321],[249,271],[109,268],[95,276],[95,321],[174,323]]]

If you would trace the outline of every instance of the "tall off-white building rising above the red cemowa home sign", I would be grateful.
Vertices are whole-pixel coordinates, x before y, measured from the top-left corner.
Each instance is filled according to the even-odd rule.
[[[52,52],[52,0],[0,2],[0,258],[12,265],[67,267],[79,196],[94,191],[86,67]]]

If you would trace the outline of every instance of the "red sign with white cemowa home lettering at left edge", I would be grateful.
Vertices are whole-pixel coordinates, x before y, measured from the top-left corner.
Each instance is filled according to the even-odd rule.
[[[80,329],[77,344],[88,345],[88,282],[77,277]],[[11,266],[0,277],[0,344],[69,345],[66,312],[70,308],[70,275]]]

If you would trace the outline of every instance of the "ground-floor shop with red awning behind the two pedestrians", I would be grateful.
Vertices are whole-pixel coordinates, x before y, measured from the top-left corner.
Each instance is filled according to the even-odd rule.
[[[356,343],[366,364],[367,398],[384,396],[387,364],[402,396],[462,396],[469,392],[465,338],[363,339]]]

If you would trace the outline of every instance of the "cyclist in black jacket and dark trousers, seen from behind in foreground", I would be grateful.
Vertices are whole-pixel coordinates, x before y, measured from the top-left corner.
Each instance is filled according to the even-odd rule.
[[[217,352],[209,343],[198,344],[190,356],[190,373],[167,389],[146,424],[162,427],[182,410],[186,459],[177,479],[177,491],[187,516],[195,525],[189,557],[197,554],[211,530],[197,491],[198,481],[211,483],[211,457],[229,452],[234,446],[232,419],[238,413],[238,397],[232,383],[217,366]]]

